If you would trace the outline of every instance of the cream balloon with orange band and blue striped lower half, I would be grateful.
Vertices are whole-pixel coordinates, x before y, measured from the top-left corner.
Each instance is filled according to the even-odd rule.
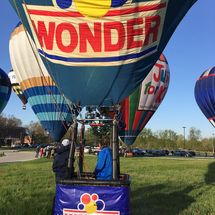
[[[40,56],[33,50],[35,46],[31,38],[19,24],[9,43],[14,73],[43,128],[54,141],[59,141],[72,121],[72,114]]]

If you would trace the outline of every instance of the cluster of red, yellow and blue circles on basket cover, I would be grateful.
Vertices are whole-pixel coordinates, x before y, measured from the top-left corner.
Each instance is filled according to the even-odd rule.
[[[77,208],[78,210],[86,211],[88,214],[94,214],[96,211],[103,211],[105,203],[103,200],[99,199],[99,196],[96,193],[93,193],[92,195],[84,193],[80,197],[80,203]]]

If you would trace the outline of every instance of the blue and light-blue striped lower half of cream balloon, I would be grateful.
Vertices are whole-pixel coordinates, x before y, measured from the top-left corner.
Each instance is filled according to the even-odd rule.
[[[31,83],[30,88],[28,84]],[[56,86],[37,86],[38,82],[33,87],[32,80],[22,82],[24,86],[24,95],[28,98],[28,102],[32,110],[37,115],[43,128],[49,132],[55,141],[59,141],[67,131],[70,125],[72,115],[68,104],[61,96]]]

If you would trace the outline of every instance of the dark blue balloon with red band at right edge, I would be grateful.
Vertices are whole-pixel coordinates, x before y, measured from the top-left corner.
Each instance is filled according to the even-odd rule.
[[[199,77],[195,85],[196,102],[202,113],[215,127],[215,67],[212,67]]]

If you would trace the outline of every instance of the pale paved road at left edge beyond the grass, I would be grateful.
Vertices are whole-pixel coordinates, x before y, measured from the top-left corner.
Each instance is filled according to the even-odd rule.
[[[0,150],[0,153],[4,152],[6,156],[0,157],[0,163],[17,162],[17,161],[29,161],[34,160],[35,152],[25,152],[17,150]]]

